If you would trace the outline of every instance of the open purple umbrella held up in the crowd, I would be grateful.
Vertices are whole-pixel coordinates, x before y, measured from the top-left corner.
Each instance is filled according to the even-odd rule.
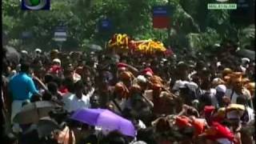
[[[72,116],[78,122],[85,122],[92,126],[100,126],[104,130],[118,130],[124,135],[135,137],[136,130],[129,120],[114,114],[110,110],[80,109]]]

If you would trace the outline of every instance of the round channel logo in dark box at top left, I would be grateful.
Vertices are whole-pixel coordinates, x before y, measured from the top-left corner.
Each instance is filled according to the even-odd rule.
[[[50,0],[22,0],[22,10],[50,10]]]

